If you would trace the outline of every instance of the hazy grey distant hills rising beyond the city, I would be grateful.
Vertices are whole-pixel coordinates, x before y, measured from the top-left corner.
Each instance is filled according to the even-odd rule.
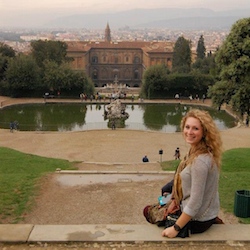
[[[216,12],[210,9],[133,9],[106,14],[82,14],[56,18],[44,26],[54,28],[103,29],[109,22],[113,29],[169,28],[169,29],[229,29],[238,19],[249,17],[250,9]]]

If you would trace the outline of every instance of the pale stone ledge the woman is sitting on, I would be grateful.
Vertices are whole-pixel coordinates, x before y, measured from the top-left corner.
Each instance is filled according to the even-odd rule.
[[[250,243],[250,225],[213,225],[207,232],[188,238],[161,236],[156,225],[0,225],[0,242],[194,242],[233,245]]]

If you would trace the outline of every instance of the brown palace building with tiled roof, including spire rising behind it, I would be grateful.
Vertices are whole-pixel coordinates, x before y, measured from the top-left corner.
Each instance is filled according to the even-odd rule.
[[[164,64],[172,68],[174,43],[170,41],[112,41],[109,24],[104,41],[67,42],[74,70],[85,70],[96,87],[119,82],[140,87],[143,72]]]

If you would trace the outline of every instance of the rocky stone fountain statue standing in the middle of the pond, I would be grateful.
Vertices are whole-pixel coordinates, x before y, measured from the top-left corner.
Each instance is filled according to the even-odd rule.
[[[129,118],[129,114],[125,112],[125,105],[121,103],[121,100],[116,99],[106,106],[104,111],[105,120],[108,119],[108,127],[112,129],[119,127],[125,127],[125,120]]]

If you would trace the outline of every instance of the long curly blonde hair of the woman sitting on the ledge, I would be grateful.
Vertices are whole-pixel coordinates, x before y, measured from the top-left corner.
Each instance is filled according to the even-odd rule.
[[[191,109],[181,120],[181,130],[183,132],[187,118],[193,117],[200,121],[203,129],[203,137],[195,148],[190,151],[190,157],[187,164],[191,163],[199,154],[210,153],[217,165],[221,165],[222,140],[220,132],[214,123],[212,117],[207,111]]]

